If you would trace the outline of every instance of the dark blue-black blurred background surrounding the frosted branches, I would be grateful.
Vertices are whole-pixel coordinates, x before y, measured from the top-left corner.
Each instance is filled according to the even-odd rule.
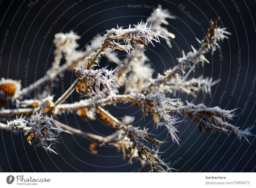
[[[33,1],[32,2],[36,2]],[[3,47],[2,61],[0,64],[0,75],[4,78],[21,80],[24,87],[24,76],[27,59],[30,59],[28,68],[28,82],[34,83],[43,77],[53,60],[53,39],[55,33],[67,33],[74,31],[81,39],[78,40],[79,49],[83,50],[85,45],[99,33],[106,33],[107,29],[119,26],[127,27],[129,24],[137,24],[141,19],[146,20],[154,7],[161,4],[167,8],[177,19],[169,19],[168,30],[176,35],[172,41],[188,52],[190,45],[199,47],[195,38],[201,39],[209,28],[209,21],[220,17],[219,25],[226,27],[232,33],[229,39],[221,43],[221,50],[215,51],[213,55],[207,54],[209,64],[196,68],[190,77],[200,75],[212,76],[214,80],[221,81],[212,87],[212,97],[206,97],[204,103],[210,107],[218,105],[220,96],[225,92],[220,107],[223,109],[235,109],[237,116],[231,122],[233,125],[245,129],[255,124],[255,102],[256,90],[253,91],[250,102],[245,108],[243,115],[241,109],[251,91],[252,81],[256,75],[255,65],[255,1],[57,1],[38,0],[33,6],[28,7],[30,1],[8,1],[0,3],[0,44],[4,40],[6,31],[9,31],[7,41]],[[63,16],[58,17],[75,4],[72,9]],[[141,8],[129,8],[129,5],[142,5]],[[190,15],[196,18],[201,25],[196,24],[188,15],[180,10],[179,4],[185,6],[183,10],[190,11]],[[149,8],[144,8],[148,5]],[[58,22],[52,28],[51,33],[44,38],[52,22]],[[238,81],[238,51],[241,50],[241,69]],[[125,53],[120,52],[120,55]],[[165,69],[177,64],[176,58],[180,52],[173,45],[169,48],[163,40],[161,44],[148,46],[146,55],[155,68],[154,75],[163,73]],[[220,55],[222,57],[220,58]],[[122,58],[122,57],[121,57]],[[221,61],[222,60],[222,61]],[[101,59],[101,66],[108,63],[107,59]],[[114,63],[110,66],[115,67]],[[67,89],[75,79],[74,73],[66,73],[64,88]],[[234,85],[237,81],[235,91]],[[53,88],[55,100],[60,96],[60,84],[56,83]],[[29,96],[27,96],[29,97]],[[171,96],[174,98],[174,96]],[[85,98],[85,97],[84,97]],[[176,93],[175,98],[183,101],[195,101],[200,103],[203,98],[202,92],[196,98],[181,93]],[[67,99],[67,102],[79,101],[80,96],[76,93]],[[13,108],[12,104],[5,106]],[[158,140],[167,139],[164,129],[156,130],[153,126],[152,116],[142,119],[139,107],[131,104],[117,104],[106,106],[114,116],[122,119],[124,115],[135,116],[134,126],[148,127],[149,132],[160,134]],[[84,121],[75,113],[58,116],[59,120],[71,127],[79,128],[94,134],[109,135],[114,128],[102,123],[99,119],[95,121]],[[8,120],[8,119],[7,119]],[[6,123],[6,119],[0,119]],[[236,135],[225,133],[203,133],[199,138],[197,124],[187,119],[179,124],[178,136],[180,146],[172,143],[162,144],[162,158],[167,162],[175,162],[173,168],[178,172],[251,172],[256,171],[256,141],[255,137],[248,137],[250,143],[244,138],[239,141]],[[137,171],[141,165],[138,161],[133,164],[127,163],[128,158],[123,160],[121,152],[116,148],[102,146],[97,148],[98,154],[92,154],[89,146],[92,141],[88,138],[71,134],[60,134],[57,144],[59,155],[45,152],[42,148],[30,146],[26,137],[19,133],[12,134],[10,131],[0,130],[0,169],[3,172],[131,172]],[[256,134],[256,127],[252,129]]]

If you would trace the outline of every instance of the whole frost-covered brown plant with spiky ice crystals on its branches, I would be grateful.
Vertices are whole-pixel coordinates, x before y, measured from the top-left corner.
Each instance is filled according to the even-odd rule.
[[[129,163],[139,160],[142,165],[139,171],[147,169],[150,172],[172,170],[170,164],[161,158],[159,147],[156,147],[165,142],[149,134],[147,128],[135,127],[134,117],[127,115],[122,120],[117,119],[115,114],[105,109],[107,105],[131,103],[138,106],[145,116],[152,117],[156,128],[166,129],[168,137],[177,144],[180,144],[177,124],[185,118],[198,123],[200,135],[203,131],[218,131],[233,133],[239,140],[244,137],[248,141],[247,136],[252,135],[252,127],[241,130],[228,122],[235,116],[234,110],[183,102],[175,97],[177,92],[196,97],[200,90],[211,94],[212,85],[218,82],[210,77],[190,78],[189,75],[199,63],[209,63],[204,55],[210,52],[213,54],[219,47],[219,41],[230,34],[226,28],[217,25],[220,18],[212,21],[202,40],[197,39],[197,49],[191,46],[193,50],[187,54],[183,52],[174,67],[153,77],[154,69],[148,63],[145,46],[154,46],[154,43],[163,39],[171,47],[169,39],[175,35],[162,27],[168,25],[167,19],[174,18],[167,12],[159,7],[145,22],[129,25],[126,29],[117,26],[107,30],[103,36],[93,38],[84,51],[76,49],[79,36],[75,33],[56,34],[54,62],[43,78],[23,89],[18,81],[4,78],[0,81],[0,105],[7,101],[15,102],[16,105],[13,109],[0,110],[1,120],[7,121],[6,124],[0,123],[1,129],[22,131],[30,144],[34,140],[37,146],[54,153],[51,144],[57,141],[60,132],[85,136],[93,141],[90,145],[92,153],[97,153],[98,146],[110,145],[122,151],[124,158],[129,157]],[[120,59],[118,51],[127,52],[126,57]],[[101,68],[103,56],[115,63],[116,68]],[[61,63],[62,59],[64,63]],[[64,69],[75,70],[77,78],[65,93],[55,99],[51,90],[52,82],[58,83]],[[72,92],[81,94],[82,99],[66,103],[65,100]],[[24,99],[27,93],[31,98]],[[41,95],[33,96],[33,93]],[[103,123],[114,127],[115,131],[104,137],[69,127],[54,119],[70,111],[87,121],[95,120],[97,116]]]

